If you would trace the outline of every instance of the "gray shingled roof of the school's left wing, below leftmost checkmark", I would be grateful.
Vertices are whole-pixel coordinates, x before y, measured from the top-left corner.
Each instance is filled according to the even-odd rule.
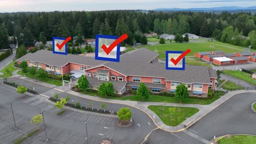
[[[28,53],[27,55],[17,59],[16,61],[26,60],[45,63],[57,67],[63,67],[68,62],[89,66],[95,66],[98,64],[106,63],[105,61],[97,61],[93,57],[84,57],[76,55],[58,55],[54,54],[52,51],[47,50],[39,50],[35,53]]]

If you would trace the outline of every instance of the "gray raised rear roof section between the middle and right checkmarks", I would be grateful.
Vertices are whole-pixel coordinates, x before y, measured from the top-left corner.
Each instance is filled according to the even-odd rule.
[[[124,53],[124,55],[120,56],[120,62],[149,63],[158,55],[159,53],[157,52],[150,51],[146,48],[141,48]]]

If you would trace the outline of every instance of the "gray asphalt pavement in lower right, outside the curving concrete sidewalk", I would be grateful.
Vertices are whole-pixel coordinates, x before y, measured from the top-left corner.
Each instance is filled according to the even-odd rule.
[[[256,115],[251,109],[254,101],[256,101],[255,93],[236,94],[192,125],[190,129],[209,141],[214,135],[256,135]]]

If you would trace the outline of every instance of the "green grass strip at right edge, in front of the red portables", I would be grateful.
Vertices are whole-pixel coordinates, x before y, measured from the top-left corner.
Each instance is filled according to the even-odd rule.
[[[256,80],[252,79],[251,74],[245,73],[243,71],[236,71],[236,70],[224,70],[223,73],[226,75],[236,77],[237,79],[246,81],[256,86]]]

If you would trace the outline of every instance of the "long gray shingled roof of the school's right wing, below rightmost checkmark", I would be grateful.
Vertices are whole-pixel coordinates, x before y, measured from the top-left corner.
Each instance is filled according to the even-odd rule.
[[[196,65],[185,65],[185,70],[166,70],[165,64],[163,63],[109,62],[104,65],[126,76],[165,77],[166,81],[210,83],[208,68]]]

